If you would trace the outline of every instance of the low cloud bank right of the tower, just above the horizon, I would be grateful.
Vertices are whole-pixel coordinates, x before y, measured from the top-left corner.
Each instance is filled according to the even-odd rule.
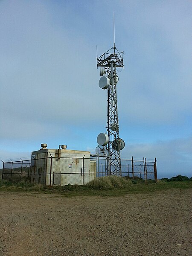
[[[155,143],[125,143],[122,157],[157,158],[158,178],[178,174],[192,176],[192,137]]]

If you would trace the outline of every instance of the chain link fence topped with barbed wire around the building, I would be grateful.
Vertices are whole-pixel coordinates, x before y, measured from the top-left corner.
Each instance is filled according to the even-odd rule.
[[[2,179],[30,182],[49,186],[84,185],[96,177],[108,176],[107,158],[91,155],[90,158],[45,157],[3,163]],[[132,180],[155,180],[157,182],[156,159],[154,161],[122,159],[121,174]]]

